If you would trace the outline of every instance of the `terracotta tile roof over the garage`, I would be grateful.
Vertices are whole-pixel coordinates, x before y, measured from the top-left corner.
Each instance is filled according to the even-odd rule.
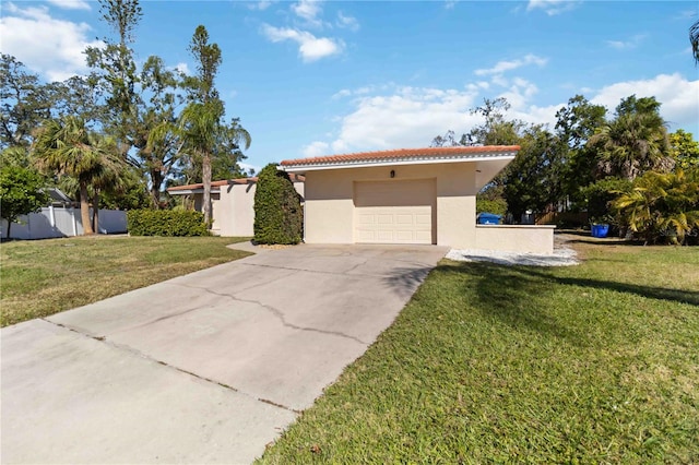
[[[404,158],[446,158],[459,155],[494,154],[519,151],[519,145],[482,145],[459,147],[396,148],[380,152],[360,152],[347,155],[328,155],[312,158],[285,159],[282,166],[336,165],[354,162],[378,162]]]

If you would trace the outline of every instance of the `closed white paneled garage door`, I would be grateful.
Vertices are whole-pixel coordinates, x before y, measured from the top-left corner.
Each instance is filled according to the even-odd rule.
[[[362,243],[434,243],[435,180],[354,184],[354,238]]]

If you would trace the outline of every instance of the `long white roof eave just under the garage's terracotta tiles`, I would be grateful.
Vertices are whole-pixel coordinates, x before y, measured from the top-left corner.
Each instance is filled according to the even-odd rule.
[[[363,159],[354,162],[328,162],[318,164],[299,164],[299,165],[282,165],[282,169],[287,172],[305,172],[317,171],[323,169],[346,169],[346,168],[370,168],[380,166],[396,165],[430,165],[442,163],[473,163],[473,162],[496,162],[512,160],[517,155],[517,151],[498,152],[498,153],[481,153],[469,154],[469,156],[425,156],[425,157],[402,157],[402,158],[384,158],[384,159]]]

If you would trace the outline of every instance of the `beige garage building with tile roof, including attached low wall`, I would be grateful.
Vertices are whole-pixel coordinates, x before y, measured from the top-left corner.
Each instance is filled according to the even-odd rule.
[[[284,160],[304,175],[308,243],[425,243],[552,253],[552,226],[476,225],[476,193],[519,146],[430,147]]]

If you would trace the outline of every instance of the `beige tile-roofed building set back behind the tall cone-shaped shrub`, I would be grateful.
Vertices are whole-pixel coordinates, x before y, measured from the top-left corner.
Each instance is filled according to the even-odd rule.
[[[291,175],[296,192],[304,196],[304,177]],[[218,236],[252,236],[254,224],[254,191],[258,178],[226,179],[211,183],[211,231]],[[194,208],[203,211],[204,184],[169,188],[170,195],[190,195]]]

